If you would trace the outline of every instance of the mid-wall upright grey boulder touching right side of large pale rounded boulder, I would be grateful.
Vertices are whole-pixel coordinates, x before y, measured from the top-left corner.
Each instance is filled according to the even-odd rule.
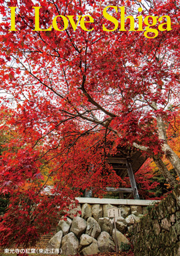
[[[87,219],[87,229],[85,233],[95,239],[99,237],[99,234],[101,233],[101,227],[98,224],[98,222],[93,217],[89,217]]]

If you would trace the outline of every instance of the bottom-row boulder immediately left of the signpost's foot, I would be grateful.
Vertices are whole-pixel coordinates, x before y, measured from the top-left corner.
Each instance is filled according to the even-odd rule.
[[[115,243],[109,233],[103,231],[97,238],[100,253],[115,251]]]

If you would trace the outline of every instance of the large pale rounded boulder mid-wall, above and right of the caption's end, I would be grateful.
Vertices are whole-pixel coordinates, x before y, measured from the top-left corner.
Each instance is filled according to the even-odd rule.
[[[73,218],[70,231],[73,232],[78,238],[81,237],[86,228],[87,223],[83,218],[79,216]]]

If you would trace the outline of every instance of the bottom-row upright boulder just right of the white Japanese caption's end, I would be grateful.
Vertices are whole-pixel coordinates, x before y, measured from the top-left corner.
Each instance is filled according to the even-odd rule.
[[[61,242],[61,250],[63,255],[76,255],[78,253],[79,240],[74,233],[65,235]]]

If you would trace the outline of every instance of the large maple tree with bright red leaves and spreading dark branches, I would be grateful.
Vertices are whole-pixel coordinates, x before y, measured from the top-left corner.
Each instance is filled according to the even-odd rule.
[[[138,7],[143,18],[168,15],[172,29],[167,31],[165,24],[156,38],[153,31],[148,32],[149,39],[144,31],[129,31],[127,19],[127,31],[103,31],[103,25],[109,30],[115,27],[103,17],[108,5],[123,5],[125,15],[134,18]],[[9,31],[8,7],[17,7],[16,31]],[[33,31],[33,7],[41,7],[39,27],[45,31]],[[5,117],[3,127],[20,135],[8,141],[8,150],[1,156],[1,191],[12,194],[1,223],[2,245],[13,241],[17,230],[17,243],[29,243],[34,233],[37,239],[41,211],[49,210],[53,219],[53,206],[63,208],[80,188],[117,184],[115,173],[107,175],[109,166],[104,161],[112,139],[113,150],[119,144],[133,146],[153,157],[167,182],[177,184],[162,157],[169,159],[179,176],[180,159],[166,134],[179,105],[179,1],[8,0],[1,1],[0,11],[4,18],[0,79],[6,93],[2,103],[5,106],[13,99],[16,108],[11,119]],[[70,24],[63,30],[61,17],[56,24],[63,31],[49,29],[57,15],[74,15],[77,22],[77,15],[89,13],[94,22],[85,23],[88,31]],[[112,8],[109,13],[118,20],[121,16]],[[158,24],[153,27],[157,29]],[[50,172],[43,182],[38,178],[47,165]],[[51,177],[55,178],[53,202],[47,196],[43,200],[39,192]],[[22,225],[27,227],[23,237]]]

